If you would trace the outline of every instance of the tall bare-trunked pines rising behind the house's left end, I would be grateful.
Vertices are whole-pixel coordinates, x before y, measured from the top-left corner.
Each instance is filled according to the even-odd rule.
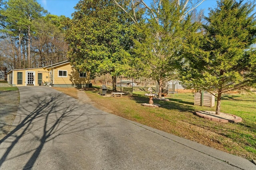
[[[4,27],[1,31],[10,35],[11,39],[14,39],[14,44],[15,39],[18,38],[18,52],[16,54],[18,56],[18,68],[22,67],[22,42],[27,44],[28,67],[31,67],[30,47],[32,33],[34,32],[33,21],[46,12],[36,0],[8,0],[4,2],[4,8],[0,10],[1,18],[4,19]]]

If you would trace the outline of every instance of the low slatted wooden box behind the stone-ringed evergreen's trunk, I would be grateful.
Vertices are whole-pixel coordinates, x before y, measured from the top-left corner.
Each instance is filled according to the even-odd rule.
[[[194,105],[214,107],[215,97],[210,93],[198,92],[194,95]]]

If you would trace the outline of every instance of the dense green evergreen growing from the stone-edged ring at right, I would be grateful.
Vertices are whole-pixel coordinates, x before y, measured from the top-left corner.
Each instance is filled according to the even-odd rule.
[[[204,34],[194,33],[188,39],[183,81],[187,88],[214,94],[216,114],[223,93],[256,83],[254,7],[253,2],[220,0],[206,18]]]

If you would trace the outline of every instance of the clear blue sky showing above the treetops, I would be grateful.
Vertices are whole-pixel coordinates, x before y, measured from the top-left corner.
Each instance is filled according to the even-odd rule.
[[[145,0],[149,1],[149,0]],[[75,12],[74,6],[79,2],[79,0],[37,0],[41,6],[53,15],[71,18],[71,14]],[[205,9],[205,14],[208,14],[208,8],[215,8],[216,0],[206,0],[198,8]]]

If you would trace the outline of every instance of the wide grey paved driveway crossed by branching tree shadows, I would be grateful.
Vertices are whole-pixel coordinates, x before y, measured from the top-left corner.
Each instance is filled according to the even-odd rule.
[[[89,99],[45,86],[19,90],[13,128],[0,145],[1,170],[256,169],[246,159],[98,110]]]

